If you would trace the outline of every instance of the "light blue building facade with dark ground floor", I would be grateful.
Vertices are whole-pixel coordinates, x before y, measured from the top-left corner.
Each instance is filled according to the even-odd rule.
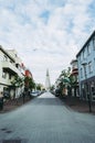
[[[78,63],[80,96],[95,100],[95,31],[76,55]]]

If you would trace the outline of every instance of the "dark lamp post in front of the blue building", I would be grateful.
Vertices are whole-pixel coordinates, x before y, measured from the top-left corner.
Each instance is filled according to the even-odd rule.
[[[86,89],[86,96],[87,96],[87,99],[88,99],[88,108],[89,108],[89,112],[92,112],[92,100],[91,100],[89,92],[87,92],[87,74],[86,74],[86,65],[87,65],[87,63],[83,63],[82,65],[84,67],[85,85],[86,85],[85,89]]]

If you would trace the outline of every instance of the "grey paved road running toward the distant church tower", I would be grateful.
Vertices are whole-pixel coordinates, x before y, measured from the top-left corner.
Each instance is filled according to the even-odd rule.
[[[95,116],[72,111],[46,92],[0,114],[0,143],[95,143]]]

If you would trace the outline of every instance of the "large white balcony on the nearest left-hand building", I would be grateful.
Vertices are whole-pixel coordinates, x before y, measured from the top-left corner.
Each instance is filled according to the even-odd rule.
[[[19,69],[9,62],[2,62],[2,68],[4,72],[10,73],[11,75],[17,75],[20,73]]]

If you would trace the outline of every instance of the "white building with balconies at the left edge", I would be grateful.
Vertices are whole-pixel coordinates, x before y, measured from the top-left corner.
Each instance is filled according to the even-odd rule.
[[[11,81],[14,76],[23,77],[21,61],[14,50],[6,51],[0,46],[0,92],[6,92],[11,97],[20,96],[22,89],[14,89]]]

